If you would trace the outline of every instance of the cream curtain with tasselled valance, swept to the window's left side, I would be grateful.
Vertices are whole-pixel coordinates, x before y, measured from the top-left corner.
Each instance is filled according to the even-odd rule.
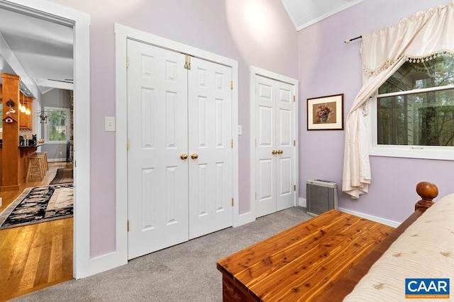
[[[371,180],[370,129],[365,127],[372,95],[404,62],[428,61],[454,54],[454,2],[404,18],[362,35],[362,88],[348,112],[345,127],[342,190],[359,198]]]

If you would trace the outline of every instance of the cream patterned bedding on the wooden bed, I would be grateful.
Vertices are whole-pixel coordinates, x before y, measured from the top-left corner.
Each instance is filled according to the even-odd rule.
[[[454,301],[454,194],[412,223],[344,301],[418,301],[405,298],[406,278],[449,278],[449,299],[423,301]]]

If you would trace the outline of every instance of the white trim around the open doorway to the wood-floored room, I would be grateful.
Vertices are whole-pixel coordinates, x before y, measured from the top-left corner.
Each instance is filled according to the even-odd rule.
[[[1,0],[0,8],[72,25],[74,30],[74,278],[93,272],[90,260],[90,16],[44,0]],[[77,62],[77,64],[75,63]]]

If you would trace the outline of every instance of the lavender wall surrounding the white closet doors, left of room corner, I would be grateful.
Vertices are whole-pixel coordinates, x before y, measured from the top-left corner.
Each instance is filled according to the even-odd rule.
[[[298,39],[276,0],[52,0],[91,15],[91,255],[115,249],[114,23],[166,37],[239,62],[240,211],[249,208],[249,66],[298,76]]]

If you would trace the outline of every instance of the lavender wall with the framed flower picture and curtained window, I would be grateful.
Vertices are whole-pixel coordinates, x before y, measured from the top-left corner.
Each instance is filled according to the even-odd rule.
[[[358,37],[408,18],[417,11],[451,0],[366,0],[346,11],[311,25],[298,33],[299,40],[299,180],[300,196],[306,197],[309,179],[333,180],[341,187],[343,170],[343,131],[306,129],[306,98],[344,93],[344,112],[350,110],[361,87],[360,40],[345,45],[344,40]],[[409,158],[371,157],[372,185],[360,199],[339,190],[339,207],[364,214],[403,221],[419,200],[415,192],[420,181],[435,182],[440,195],[453,190],[454,163]]]

